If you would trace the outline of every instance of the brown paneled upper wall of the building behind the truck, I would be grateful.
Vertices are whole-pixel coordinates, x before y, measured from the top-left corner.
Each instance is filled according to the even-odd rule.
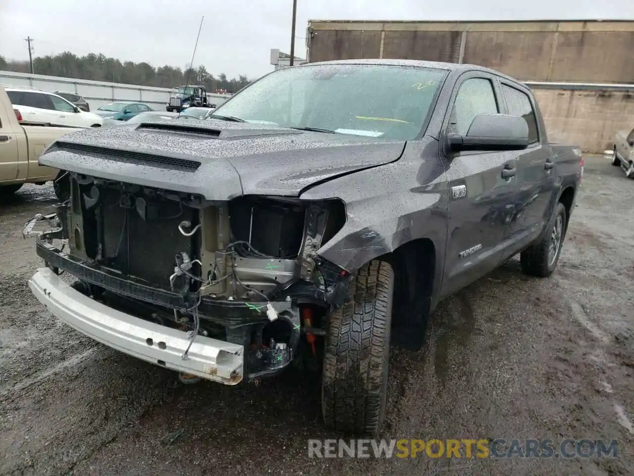
[[[311,20],[307,38],[310,62],[405,58],[473,63],[523,81],[634,83],[630,21]]]

